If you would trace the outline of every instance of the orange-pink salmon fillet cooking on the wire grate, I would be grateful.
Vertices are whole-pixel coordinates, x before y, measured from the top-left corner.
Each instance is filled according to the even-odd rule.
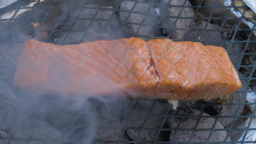
[[[140,38],[66,46],[31,39],[24,44],[14,84],[38,94],[185,101],[222,98],[242,87],[224,48]]]

